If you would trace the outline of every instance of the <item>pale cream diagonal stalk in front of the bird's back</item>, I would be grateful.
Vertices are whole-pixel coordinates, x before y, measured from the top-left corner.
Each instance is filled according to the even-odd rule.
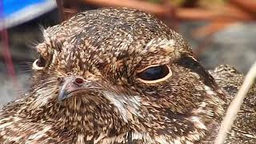
[[[256,77],[256,62],[251,66],[241,88],[238,90],[238,94],[234,97],[234,100],[230,103],[227,109],[226,116],[222,121],[222,125],[218,131],[218,136],[215,139],[215,144],[222,144],[225,141],[227,132],[230,130],[238,110],[242,106],[243,99],[250,90],[250,87],[254,84],[254,78]]]

